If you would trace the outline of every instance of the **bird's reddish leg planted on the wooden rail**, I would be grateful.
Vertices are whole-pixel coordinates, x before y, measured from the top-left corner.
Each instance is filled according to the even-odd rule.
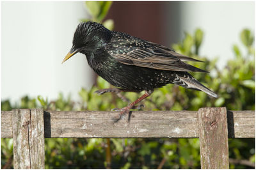
[[[116,122],[116,121],[120,120],[124,114],[128,113],[130,111],[130,109],[134,108],[134,105],[141,102],[141,100],[149,97],[152,93],[153,93],[153,90],[147,90],[144,95],[142,95],[140,98],[138,98],[134,102],[128,104],[126,107],[123,107],[122,109],[115,109],[115,111],[121,111],[121,112],[118,116],[116,116],[116,118],[113,118],[113,121]]]

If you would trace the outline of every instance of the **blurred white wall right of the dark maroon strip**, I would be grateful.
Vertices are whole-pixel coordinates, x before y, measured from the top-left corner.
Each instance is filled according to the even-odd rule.
[[[234,57],[232,45],[243,46],[241,31],[248,28],[254,34],[254,1],[181,2],[180,7],[180,36],[184,37],[184,31],[193,33],[200,27],[205,33],[200,55],[219,57],[220,68]]]

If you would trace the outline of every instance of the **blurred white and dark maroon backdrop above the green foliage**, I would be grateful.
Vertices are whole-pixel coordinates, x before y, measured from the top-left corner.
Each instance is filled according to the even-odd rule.
[[[16,102],[23,95],[56,99],[91,88],[93,72],[77,54],[61,65],[72,46],[81,19],[89,19],[84,2],[1,2],[1,98]],[[106,19],[114,29],[170,47],[185,32],[205,33],[201,56],[219,57],[223,68],[232,58],[232,44],[242,29],[255,29],[253,1],[235,2],[114,2]],[[242,49],[243,50],[243,49]]]

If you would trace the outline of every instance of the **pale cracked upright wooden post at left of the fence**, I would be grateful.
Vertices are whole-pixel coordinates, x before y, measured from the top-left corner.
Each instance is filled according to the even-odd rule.
[[[13,167],[44,169],[44,111],[13,109]]]

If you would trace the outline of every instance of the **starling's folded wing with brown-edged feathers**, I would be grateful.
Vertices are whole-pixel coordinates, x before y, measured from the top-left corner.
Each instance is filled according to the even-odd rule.
[[[122,49],[116,47],[118,52],[111,52],[111,56],[113,56],[116,61],[125,65],[178,72],[206,72],[205,70],[183,62],[199,61],[197,59],[183,56],[163,45],[158,45],[152,42],[143,43],[143,45],[137,43],[136,47],[134,47],[134,45],[132,47],[127,45],[127,48],[130,48],[131,50],[125,50],[125,46],[121,46],[120,48]]]

